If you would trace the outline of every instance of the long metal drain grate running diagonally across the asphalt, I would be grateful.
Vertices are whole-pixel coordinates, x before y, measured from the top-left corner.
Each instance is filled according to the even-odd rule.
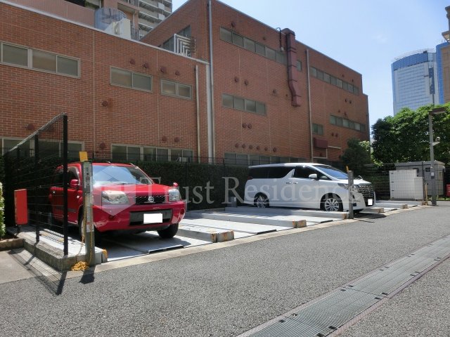
[[[263,324],[241,336],[327,336],[449,254],[450,236],[374,270],[316,302],[303,305],[293,315],[283,315],[274,324]]]

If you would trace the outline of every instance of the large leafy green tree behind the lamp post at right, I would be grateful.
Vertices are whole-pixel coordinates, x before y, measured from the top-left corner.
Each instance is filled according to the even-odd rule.
[[[373,159],[382,163],[430,160],[428,112],[433,105],[425,105],[413,111],[402,109],[394,117],[388,116],[372,126]],[[449,106],[446,106],[447,111]],[[433,117],[435,136],[441,138],[435,146],[435,159],[450,162],[450,114]]]

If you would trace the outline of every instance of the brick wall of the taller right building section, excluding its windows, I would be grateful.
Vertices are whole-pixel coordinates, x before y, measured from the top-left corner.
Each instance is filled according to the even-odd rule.
[[[209,60],[209,20],[206,0],[192,0],[172,13],[143,41],[162,45],[188,25],[196,41],[194,57]],[[359,87],[354,95],[342,88],[316,78],[310,79],[312,121],[323,126],[323,135],[330,147],[315,148],[314,157],[337,161],[352,137],[368,140],[368,102],[362,91],[361,74],[341,65],[326,55],[296,42],[297,60],[302,71],[297,72],[300,106],[293,107],[288,86],[287,67],[255,52],[223,41],[221,27],[236,32],[278,51],[280,32],[248,15],[212,1],[212,39],[214,66],[214,117],[216,121],[216,156],[225,153],[307,159],[311,158],[309,131],[309,100],[306,51],[310,65]],[[281,45],[286,50],[285,34]],[[236,95],[266,104],[266,116],[233,110],[222,105],[222,94]],[[366,131],[354,131],[330,124],[330,114],[365,124]],[[251,128],[249,128],[249,125]]]

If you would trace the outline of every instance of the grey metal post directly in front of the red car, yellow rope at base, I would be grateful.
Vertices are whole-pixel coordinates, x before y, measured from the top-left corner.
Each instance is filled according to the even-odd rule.
[[[95,237],[94,237],[94,217],[92,214],[92,163],[82,162],[83,171],[83,222],[84,246],[86,247],[86,262],[95,265]],[[78,225],[82,225],[79,223]]]

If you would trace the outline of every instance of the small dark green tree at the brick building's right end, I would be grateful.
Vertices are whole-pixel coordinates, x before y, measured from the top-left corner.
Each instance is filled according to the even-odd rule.
[[[347,149],[341,157],[342,164],[354,171],[355,176],[364,172],[364,165],[371,163],[371,143],[358,138],[347,140]]]

